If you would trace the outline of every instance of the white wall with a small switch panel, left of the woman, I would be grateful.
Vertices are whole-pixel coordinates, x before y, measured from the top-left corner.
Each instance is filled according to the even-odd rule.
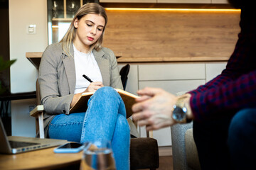
[[[28,34],[28,25],[36,24],[36,33]],[[38,71],[26,59],[26,52],[43,52],[48,44],[47,1],[9,0],[11,93],[36,90]],[[29,107],[35,99],[11,101],[12,135],[34,136],[35,120]],[[33,129],[33,130],[31,130]]]

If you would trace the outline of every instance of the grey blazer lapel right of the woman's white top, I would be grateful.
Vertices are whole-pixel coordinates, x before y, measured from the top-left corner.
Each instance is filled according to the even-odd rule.
[[[110,64],[109,61],[103,57],[105,52],[102,50],[99,50],[98,52],[96,50],[92,50],[92,53],[95,56],[95,60],[100,68],[103,81],[102,83],[104,86],[110,86]]]

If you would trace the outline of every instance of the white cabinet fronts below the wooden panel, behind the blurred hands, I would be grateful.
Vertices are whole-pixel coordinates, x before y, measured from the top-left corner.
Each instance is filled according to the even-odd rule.
[[[126,91],[136,94],[146,86],[162,88],[172,94],[191,91],[220,74],[225,65],[226,62],[131,64]],[[122,66],[124,64],[119,64],[119,69]],[[146,137],[144,127],[138,130]],[[170,127],[153,131],[153,137],[159,147],[171,146]]]

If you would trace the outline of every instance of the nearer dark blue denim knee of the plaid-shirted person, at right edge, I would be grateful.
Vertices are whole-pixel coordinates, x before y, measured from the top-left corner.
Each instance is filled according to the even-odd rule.
[[[231,120],[228,148],[232,169],[255,169],[256,108],[239,111]]]

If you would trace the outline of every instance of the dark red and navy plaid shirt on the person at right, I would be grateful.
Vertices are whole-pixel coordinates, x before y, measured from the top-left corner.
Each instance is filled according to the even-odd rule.
[[[241,10],[239,39],[226,68],[218,77],[188,92],[195,120],[256,108],[256,12],[246,10]]]

